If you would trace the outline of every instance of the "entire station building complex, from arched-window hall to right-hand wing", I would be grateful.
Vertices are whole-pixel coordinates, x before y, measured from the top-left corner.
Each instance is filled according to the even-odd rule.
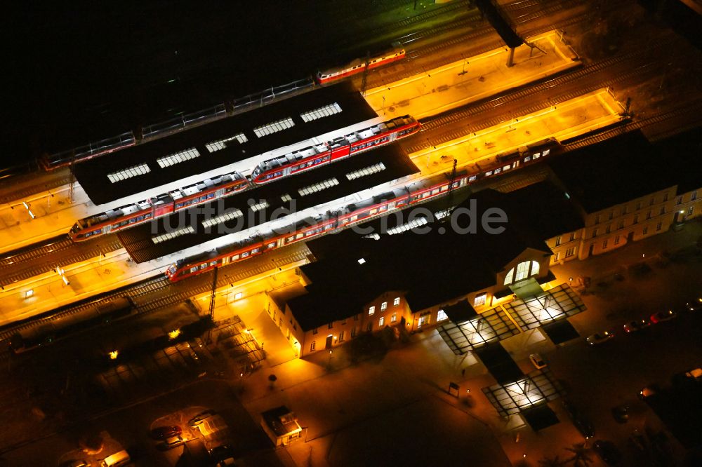
[[[682,228],[702,213],[700,131],[657,144],[627,133],[559,156],[543,182],[484,189],[458,206],[503,210],[501,234],[434,224],[425,234],[375,240],[347,230],[310,242],[317,261],[300,268],[307,294],[284,309],[300,356],[385,327],[417,332],[463,322],[541,294],[553,264]]]

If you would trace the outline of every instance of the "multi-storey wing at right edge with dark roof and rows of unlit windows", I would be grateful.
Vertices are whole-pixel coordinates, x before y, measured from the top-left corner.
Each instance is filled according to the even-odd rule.
[[[552,182],[584,223],[546,240],[551,264],[601,255],[702,215],[701,133],[650,144],[635,131],[550,161]]]

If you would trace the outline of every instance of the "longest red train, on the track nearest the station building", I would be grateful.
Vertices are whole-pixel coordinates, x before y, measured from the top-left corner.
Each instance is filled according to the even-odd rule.
[[[500,175],[521,165],[536,163],[541,161],[541,158],[550,156],[559,149],[561,149],[559,142],[555,138],[548,138],[511,153],[500,155],[497,157],[498,163],[496,165],[482,172],[474,174],[460,172],[456,174],[456,177],[453,179],[453,189]],[[268,238],[263,238],[263,240],[251,239],[247,243],[227,247],[226,251],[207,252],[196,257],[181,259],[168,267],[166,275],[169,280],[176,282],[204,273],[214,267],[244,261],[244,259],[261,255],[291,243],[306,241],[330,231],[363,222],[371,217],[385,215],[392,210],[402,209],[408,205],[422,203],[432,198],[443,196],[449,191],[450,183],[451,180],[446,180],[446,176],[441,175],[432,179],[420,180],[408,186],[398,187],[383,196],[366,201],[363,205],[349,205],[343,212],[322,217],[319,220],[315,220],[314,223],[300,222],[294,228],[291,228],[291,233],[288,234],[272,234]]]

